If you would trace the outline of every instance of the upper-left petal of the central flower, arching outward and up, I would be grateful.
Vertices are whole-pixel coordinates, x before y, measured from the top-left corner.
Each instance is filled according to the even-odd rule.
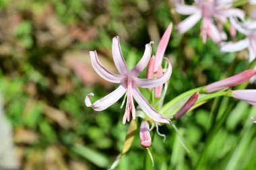
[[[96,51],[90,51],[90,57],[92,62],[92,67],[106,81],[110,81],[112,83],[120,83],[121,82],[121,75],[115,75],[110,71],[107,71],[105,67],[102,66],[100,60],[98,59]]]

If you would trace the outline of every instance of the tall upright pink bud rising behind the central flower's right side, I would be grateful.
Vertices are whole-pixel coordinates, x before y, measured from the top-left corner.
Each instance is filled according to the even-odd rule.
[[[164,52],[170,40],[170,33],[172,32],[172,23],[169,24],[168,28],[164,32],[156,50],[156,60],[154,66],[154,72],[158,70],[158,67],[162,65],[162,58],[164,57]]]

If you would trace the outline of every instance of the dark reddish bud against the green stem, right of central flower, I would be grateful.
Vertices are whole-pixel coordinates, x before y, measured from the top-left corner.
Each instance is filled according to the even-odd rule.
[[[174,114],[174,118],[175,120],[179,120],[185,113],[187,113],[187,111],[195,104],[195,102],[197,101],[199,96],[198,92],[195,92],[193,95],[191,95],[191,97],[189,97],[189,99],[187,100],[187,102],[181,107],[181,109]]]

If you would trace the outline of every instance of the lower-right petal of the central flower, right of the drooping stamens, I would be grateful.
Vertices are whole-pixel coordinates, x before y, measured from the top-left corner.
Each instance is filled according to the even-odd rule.
[[[148,101],[141,95],[141,93],[137,89],[133,89],[133,97],[135,101],[139,104],[139,107],[145,114],[147,114],[150,118],[155,120],[156,122],[164,123],[164,124],[170,124],[170,120],[167,118],[163,118],[161,114],[156,112],[154,108],[148,103]]]

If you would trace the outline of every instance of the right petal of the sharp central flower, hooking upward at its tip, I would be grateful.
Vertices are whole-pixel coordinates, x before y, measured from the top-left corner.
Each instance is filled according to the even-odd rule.
[[[137,87],[143,87],[143,88],[152,88],[152,87],[158,87],[159,85],[162,85],[170,79],[170,75],[172,75],[172,65],[170,64],[170,61],[168,58],[164,58],[168,62],[168,69],[158,79],[139,79],[137,77],[133,78],[133,81],[135,83],[135,86]]]

